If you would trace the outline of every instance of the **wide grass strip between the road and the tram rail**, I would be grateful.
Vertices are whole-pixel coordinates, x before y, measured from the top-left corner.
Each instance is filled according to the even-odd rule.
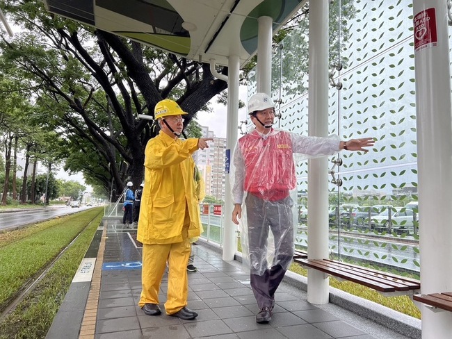
[[[42,271],[91,222],[102,208],[92,208],[43,222],[40,231],[0,247],[0,309]]]

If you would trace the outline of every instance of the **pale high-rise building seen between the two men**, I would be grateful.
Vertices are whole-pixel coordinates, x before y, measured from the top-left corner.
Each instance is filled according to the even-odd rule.
[[[217,138],[208,126],[201,126],[203,138],[213,138],[209,148],[193,154],[195,163],[206,183],[206,195],[225,199],[225,149],[226,138]]]

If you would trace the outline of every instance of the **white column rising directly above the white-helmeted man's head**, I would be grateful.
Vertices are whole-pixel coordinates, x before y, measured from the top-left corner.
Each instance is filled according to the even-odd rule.
[[[259,17],[257,33],[257,92],[271,96],[271,38],[273,34],[273,19]]]

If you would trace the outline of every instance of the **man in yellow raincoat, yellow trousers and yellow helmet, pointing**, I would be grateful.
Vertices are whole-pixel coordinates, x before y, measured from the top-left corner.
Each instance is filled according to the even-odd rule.
[[[209,147],[212,138],[179,140],[184,129],[179,105],[165,99],[156,104],[154,118],[159,135],[147,142],[145,185],[141,196],[137,240],[143,243],[140,306],[146,315],[159,315],[159,288],[168,262],[166,314],[193,320],[197,313],[186,307],[190,240],[200,236],[199,195],[192,154]]]

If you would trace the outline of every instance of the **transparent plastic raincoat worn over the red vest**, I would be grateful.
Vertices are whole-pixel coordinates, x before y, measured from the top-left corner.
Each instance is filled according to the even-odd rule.
[[[291,264],[296,232],[296,161],[339,151],[339,137],[307,137],[271,129],[239,139],[232,161],[232,199],[244,203],[239,231],[251,274]],[[298,154],[296,161],[294,155]]]

